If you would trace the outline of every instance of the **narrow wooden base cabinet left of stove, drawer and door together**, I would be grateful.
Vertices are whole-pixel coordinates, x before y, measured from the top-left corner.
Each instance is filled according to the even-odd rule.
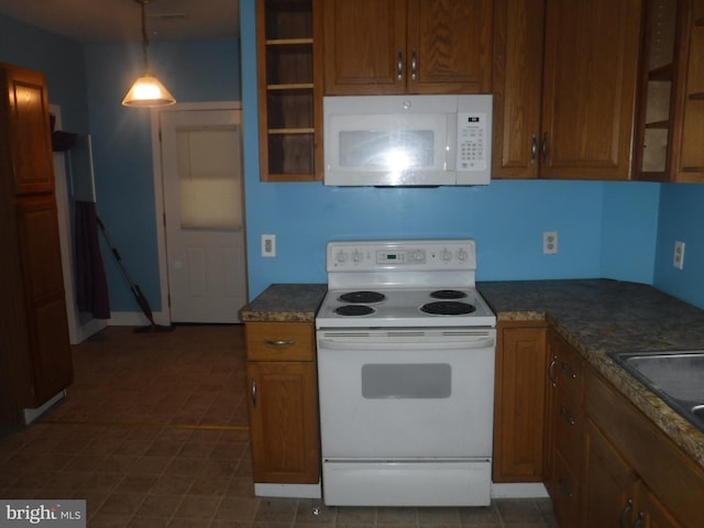
[[[320,481],[318,384],[311,322],[245,322],[255,483]]]

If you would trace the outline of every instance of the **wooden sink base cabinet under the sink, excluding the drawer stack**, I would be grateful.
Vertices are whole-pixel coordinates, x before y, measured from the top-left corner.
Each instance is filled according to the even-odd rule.
[[[585,376],[584,528],[704,526],[704,471],[592,370]]]

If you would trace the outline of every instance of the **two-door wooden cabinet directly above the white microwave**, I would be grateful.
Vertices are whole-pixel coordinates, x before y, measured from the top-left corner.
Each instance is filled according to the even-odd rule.
[[[492,0],[326,0],[324,94],[490,94]]]

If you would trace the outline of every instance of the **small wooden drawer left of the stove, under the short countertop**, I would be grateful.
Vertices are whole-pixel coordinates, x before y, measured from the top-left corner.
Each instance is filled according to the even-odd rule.
[[[310,322],[248,322],[248,361],[314,361],[315,331]]]

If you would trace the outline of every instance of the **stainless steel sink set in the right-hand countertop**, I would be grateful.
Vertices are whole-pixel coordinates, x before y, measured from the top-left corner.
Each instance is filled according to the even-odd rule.
[[[609,356],[704,431],[704,350],[622,352]]]

